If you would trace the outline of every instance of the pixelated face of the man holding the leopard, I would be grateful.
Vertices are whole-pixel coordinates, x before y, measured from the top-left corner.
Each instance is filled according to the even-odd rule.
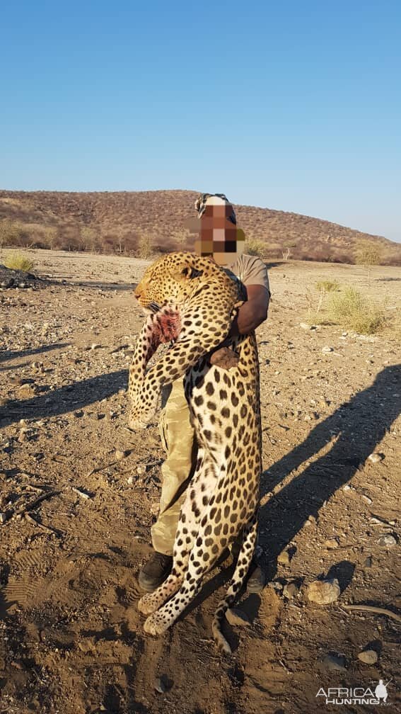
[[[242,255],[245,245],[244,232],[228,220],[231,206],[206,206],[200,218],[188,221],[191,233],[198,233],[195,252],[198,256],[210,256],[219,266],[233,265]]]

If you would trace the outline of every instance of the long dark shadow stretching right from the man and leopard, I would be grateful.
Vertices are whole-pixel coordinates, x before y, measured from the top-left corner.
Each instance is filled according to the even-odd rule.
[[[275,575],[276,558],[320,508],[362,468],[401,412],[401,365],[383,369],[370,387],[343,403],[308,437],[262,476],[261,496],[278,486],[323,448],[331,448],[309,463],[279,493],[260,508],[259,543],[268,563],[268,579]],[[345,578],[346,580],[348,578]]]

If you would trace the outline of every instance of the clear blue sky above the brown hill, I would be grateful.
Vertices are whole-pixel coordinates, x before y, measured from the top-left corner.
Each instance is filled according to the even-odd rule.
[[[399,1],[7,3],[0,186],[225,192],[401,241]]]

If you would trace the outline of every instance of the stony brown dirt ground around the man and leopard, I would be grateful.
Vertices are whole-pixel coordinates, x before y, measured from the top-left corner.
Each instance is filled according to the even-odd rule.
[[[270,266],[273,301],[258,329],[268,584],[243,593],[251,624],[227,624],[227,656],[210,622],[230,558],[163,638],[143,632],[136,610],[163,460],[157,424],[138,438],[126,429],[143,321],[131,288],[147,263],[31,254],[49,282],[0,293],[1,714],[357,714],[382,707],[338,707],[318,691],[374,690],[379,679],[397,710],[399,270],[374,268],[369,282],[357,266]],[[385,330],[300,327],[323,278],[386,301]],[[340,583],[331,605],[308,600],[320,575]],[[365,649],[376,663],[358,658]]]

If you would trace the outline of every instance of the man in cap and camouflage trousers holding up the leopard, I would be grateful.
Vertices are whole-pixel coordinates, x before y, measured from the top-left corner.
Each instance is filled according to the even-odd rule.
[[[213,257],[230,276],[235,276],[245,286],[245,302],[233,320],[228,338],[210,353],[210,364],[229,371],[238,361],[237,354],[230,349],[235,337],[252,333],[267,318],[268,272],[260,258],[243,254],[245,236],[236,228],[233,206],[224,194],[201,194],[196,201],[196,211],[200,233],[196,253]],[[161,468],[160,514],[151,528],[154,553],[138,574],[139,585],[148,593],[156,590],[171,573],[178,518],[198,458],[183,378],[163,389],[162,403],[160,431],[167,458]],[[248,571],[247,589],[259,592],[263,585],[263,571],[254,557]]]

